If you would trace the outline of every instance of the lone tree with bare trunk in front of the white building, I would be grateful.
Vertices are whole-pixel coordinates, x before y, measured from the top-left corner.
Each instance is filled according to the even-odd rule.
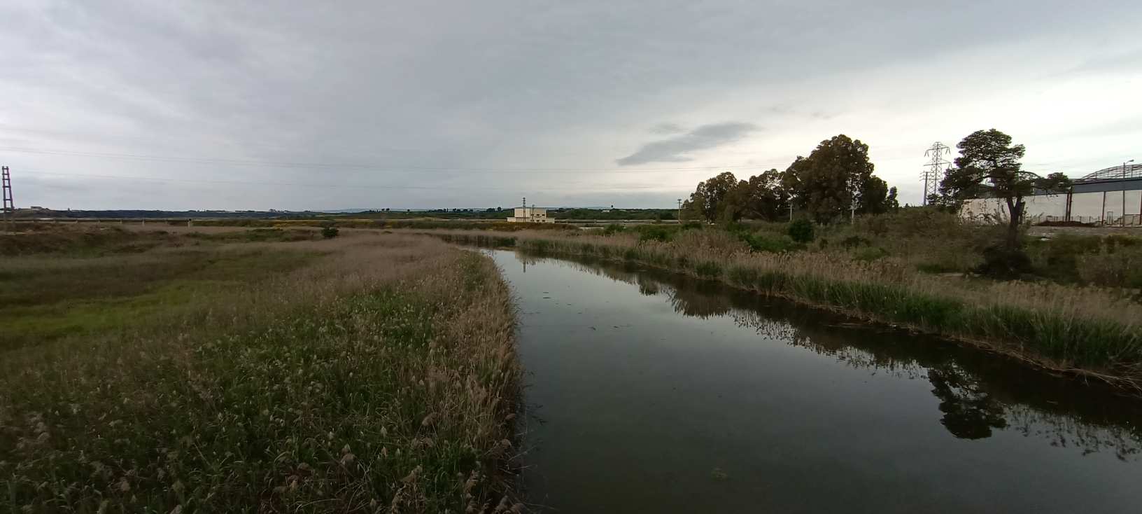
[[[1004,246],[1008,252],[1020,249],[1019,226],[1029,196],[1042,190],[1057,192],[1065,190],[1070,180],[1063,174],[1040,177],[1023,171],[1026,147],[1013,145],[1011,136],[996,130],[976,130],[956,145],[959,156],[956,166],[944,171],[940,192],[956,200],[971,198],[996,198],[1007,204],[1007,235]]]

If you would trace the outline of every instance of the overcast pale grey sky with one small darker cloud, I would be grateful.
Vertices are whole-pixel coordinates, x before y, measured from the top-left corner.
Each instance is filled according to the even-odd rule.
[[[1136,0],[7,0],[0,163],[17,207],[666,208],[845,134],[918,203],[924,151],[979,129],[1040,174],[1142,162],[1139,26]]]

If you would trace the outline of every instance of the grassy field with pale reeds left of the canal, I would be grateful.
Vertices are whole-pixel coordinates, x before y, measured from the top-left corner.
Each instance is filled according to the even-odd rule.
[[[518,508],[514,311],[486,257],[372,233],[10,238],[0,512]]]

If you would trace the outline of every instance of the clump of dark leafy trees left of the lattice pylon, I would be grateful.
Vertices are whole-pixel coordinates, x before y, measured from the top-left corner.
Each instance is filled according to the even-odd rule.
[[[817,223],[898,209],[896,188],[872,175],[868,145],[844,134],[822,140],[785,171],[771,169],[739,180],[726,171],[698,183],[682,204],[687,219],[770,222],[798,212]],[[791,210],[790,210],[791,208]]]

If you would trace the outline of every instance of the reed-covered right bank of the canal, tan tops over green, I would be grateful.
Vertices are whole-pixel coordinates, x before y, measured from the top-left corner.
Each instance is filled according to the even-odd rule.
[[[718,280],[955,338],[1142,394],[1142,305],[1109,289],[926,274],[892,259],[860,262],[827,251],[750,252],[722,232],[692,231],[669,242],[629,234],[426,233],[457,243],[626,260]]]

